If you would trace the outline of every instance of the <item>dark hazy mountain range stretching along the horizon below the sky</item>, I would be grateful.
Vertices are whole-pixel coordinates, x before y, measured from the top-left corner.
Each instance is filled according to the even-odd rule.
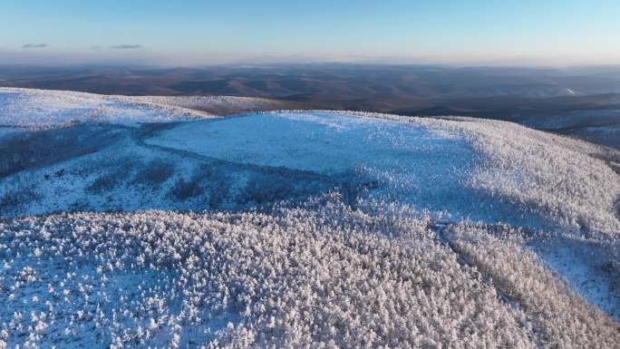
[[[533,127],[579,114],[578,123],[555,122],[552,129],[620,147],[615,112],[620,110],[619,66],[560,70],[348,63],[198,68],[12,65],[0,66],[0,86],[129,96],[261,97],[286,102],[289,109],[452,114]],[[591,126],[605,130],[588,130]]]

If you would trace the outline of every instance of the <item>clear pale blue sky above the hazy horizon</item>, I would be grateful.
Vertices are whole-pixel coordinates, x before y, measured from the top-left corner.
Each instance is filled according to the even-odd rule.
[[[2,0],[0,63],[620,63],[618,0]]]

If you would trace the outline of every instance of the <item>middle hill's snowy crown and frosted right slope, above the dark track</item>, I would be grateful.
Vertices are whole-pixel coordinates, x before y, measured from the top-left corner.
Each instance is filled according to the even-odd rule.
[[[596,147],[509,122],[275,112],[191,122],[149,144],[368,183],[366,199],[454,219],[615,235],[620,178]]]

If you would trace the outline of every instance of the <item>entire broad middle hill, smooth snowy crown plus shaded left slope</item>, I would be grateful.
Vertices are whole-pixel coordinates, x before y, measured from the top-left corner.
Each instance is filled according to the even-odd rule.
[[[596,159],[596,146],[508,122],[299,111],[140,130],[82,125],[23,137],[5,141],[9,159],[17,158],[5,160],[5,217],[236,209],[337,189],[351,202],[406,204],[452,220],[620,231],[620,178]],[[55,148],[40,156],[46,166],[32,163],[37,146]]]

